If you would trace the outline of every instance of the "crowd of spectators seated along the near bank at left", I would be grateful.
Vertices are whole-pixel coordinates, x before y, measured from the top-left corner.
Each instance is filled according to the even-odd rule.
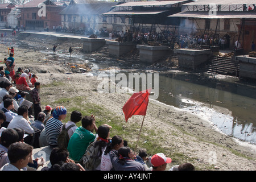
[[[33,160],[32,151],[45,146],[51,148],[51,167],[42,171],[164,171],[172,162],[163,153],[148,156],[140,150],[137,155],[121,136],[110,134],[111,126],[97,126],[94,115],[73,110],[63,123],[68,112],[64,106],[47,105],[42,111],[38,77],[30,69],[15,72],[14,49],[5,65],[0,67],[0,171],[37,170],[45,159]],[[195,167],[185,163],[170,170]]]

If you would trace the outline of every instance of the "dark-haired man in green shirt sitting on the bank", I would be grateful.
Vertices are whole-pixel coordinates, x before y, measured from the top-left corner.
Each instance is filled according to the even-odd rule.
[[[80,162],[87,147],[96,138],[96,134],[93,133],[94,130],[97,133],[98,128],[94,116],[82,118],[82,126],[76,129],[68,143],[69,157],[75,160],[75,162]]]

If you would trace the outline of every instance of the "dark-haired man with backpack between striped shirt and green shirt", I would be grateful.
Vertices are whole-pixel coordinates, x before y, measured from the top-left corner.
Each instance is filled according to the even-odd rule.
[[[81,121],[82,119],[82,114],[80,111],[72,111],[70,121],[65,123],[61,127],[61,132],[58,137],[58,147],[59,148],[67,148],[68,147],[68,142],[73,133],[75,133],[77,126],[76,123]]]

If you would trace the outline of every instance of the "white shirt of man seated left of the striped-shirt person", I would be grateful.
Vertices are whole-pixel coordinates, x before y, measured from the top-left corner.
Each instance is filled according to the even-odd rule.
[[[27,119],[23,118],[22,115],[17,115],[15,118],[13,118],[7,129],[15,129],[15,127],[24,130],[28,134],[34,133],[34,129],[30,126]]]

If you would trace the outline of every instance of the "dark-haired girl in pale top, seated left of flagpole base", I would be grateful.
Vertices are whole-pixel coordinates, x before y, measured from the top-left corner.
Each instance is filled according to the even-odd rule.
[[[109,152],[112,150],[118,151],[118,149],[121,147],[123,147],[123,139],[122,137],[115,135],[112,138],[112,142],[108,144],[105,151],[101,155],[101,171],[110,171],[113,168]]]

